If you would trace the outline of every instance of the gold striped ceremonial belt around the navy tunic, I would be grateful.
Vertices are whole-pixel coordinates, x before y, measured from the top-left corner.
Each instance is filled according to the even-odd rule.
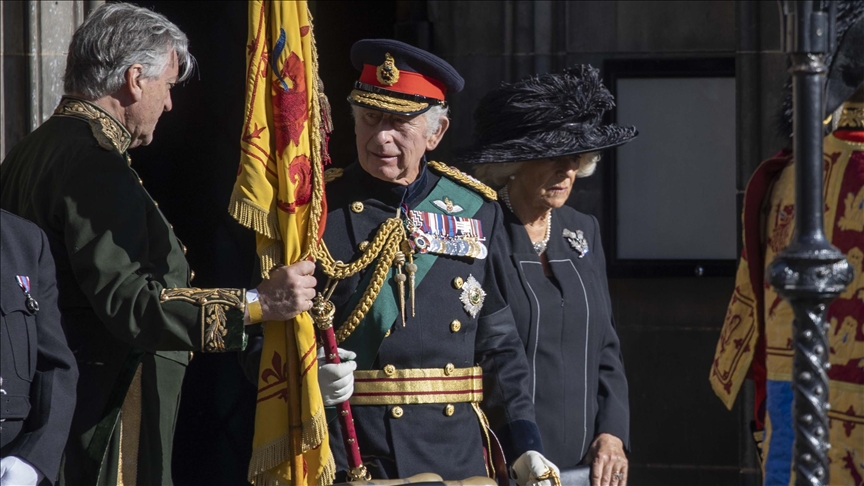
[[[483,400],[483,369],[430,368],[354,372],[351,405],[478,403]]]

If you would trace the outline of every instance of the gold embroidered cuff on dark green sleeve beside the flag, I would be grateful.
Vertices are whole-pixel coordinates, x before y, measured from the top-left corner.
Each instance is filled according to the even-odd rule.
[[[242,351],[246,347],[244,289],[163,289],[159,300],[189,302],[201,308],[201,350]]]

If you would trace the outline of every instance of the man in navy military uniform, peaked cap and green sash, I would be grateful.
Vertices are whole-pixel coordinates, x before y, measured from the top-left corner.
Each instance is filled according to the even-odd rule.
[[[495,192],[425,158],[449,127],[447,92],[464,81],[393,40],[359,41],[351,61],[361,71],[348,98],[358,157],[326,188],[332,258],[319,258],[319,290],[335,304],[340,347],[357,354],[350,403],[363,462],[373,478],[492,475],[488,416],[519,458],[519,484],[552,484],[502,298],[507,236]],[[344,471],[335,421],[330,431]]]

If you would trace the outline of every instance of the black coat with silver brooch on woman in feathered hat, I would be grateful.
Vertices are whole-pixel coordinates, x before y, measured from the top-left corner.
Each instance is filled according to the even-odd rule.
[[[597,220],[567,206],[552,211],[548,278],[525,227],[503,210],[512,244],[507,302],[528,357],[545,456],[559,467],[575,466],[604,432],[629,448],[627,379]],[[584,257],[563,236],[565,228],[584,233]]]

